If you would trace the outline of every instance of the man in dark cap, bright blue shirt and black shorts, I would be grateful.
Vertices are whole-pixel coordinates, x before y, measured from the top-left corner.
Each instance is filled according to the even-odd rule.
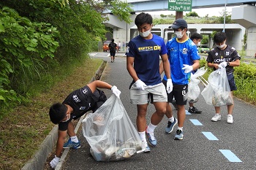
[[[183,125],[186,117],[185,105],[187,104],[187,90],[189,77],[193,70],[198,69],[200,56],[197,53],[197,46],[187,36],[187,22],[184,19],[177,19],[173,25],[176,37],[170,39],[167,44],[167,55],[170,61],[170,74],[173,82],[173,91],[167,94],[168,102],[173,101],[173,96],[178,107],[178,129],[174,139],[183,139]],[[160,64],[160,73],[162,73],[162,63]],[[167,77],[164,76],[162,82],[166,84]],[[177,120],[173,117],[170,104],[166,104],[166,114],[168,120],[165,133],[170,134]]]

